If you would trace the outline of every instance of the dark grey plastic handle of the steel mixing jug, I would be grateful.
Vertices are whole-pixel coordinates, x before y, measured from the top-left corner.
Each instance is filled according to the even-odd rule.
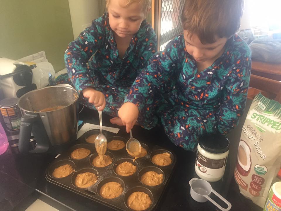
[[[18,138],[18,149],[20,153],[28,153],[32,125],[37,118],[38,116],[36,114],[25,114],[21,118],[20,135]]]

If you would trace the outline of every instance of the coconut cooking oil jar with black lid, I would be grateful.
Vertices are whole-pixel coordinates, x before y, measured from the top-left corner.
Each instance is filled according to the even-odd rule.
[[[225,173],[229,140],[216,133],[206,133],[199,137],[195,172],[208,182],[219,181]]]

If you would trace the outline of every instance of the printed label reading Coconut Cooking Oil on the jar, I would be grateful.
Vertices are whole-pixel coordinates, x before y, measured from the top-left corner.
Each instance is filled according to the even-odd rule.
[[[199,175],[208,178],[217,178],[223,176],[225,172],[227,157],[224,159],[210,159],[203,156],[200,152],[196,152],[195,167]]]

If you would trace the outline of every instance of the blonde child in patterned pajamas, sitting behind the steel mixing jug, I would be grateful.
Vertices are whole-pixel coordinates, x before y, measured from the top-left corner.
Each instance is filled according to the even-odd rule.
[[[81,92],[80,103],[117,116],[130,86],[157,47],[156,35],[145,20],[150,0],[106,0],[108,12],[92,21],[68,45],[64,59],[68,83]],[[89,60],[90,59],[90,60]]]

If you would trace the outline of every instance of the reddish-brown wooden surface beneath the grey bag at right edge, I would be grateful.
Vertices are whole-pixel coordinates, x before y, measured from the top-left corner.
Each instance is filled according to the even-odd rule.
[[[281,64],[252,61],[251,74],[281,81]]]

